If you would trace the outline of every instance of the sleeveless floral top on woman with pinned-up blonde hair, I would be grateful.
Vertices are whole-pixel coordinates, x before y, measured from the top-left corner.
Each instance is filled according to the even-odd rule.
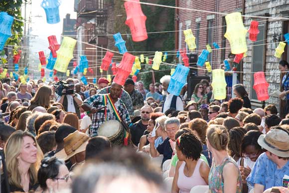
[[[239,171],[239,168],[235,160],[231,157],[225,158],[222,164],[219,166],[215,166],[215,163],[213,163],[209,174],[209,190],[210,190],[209,193],[224,193],[223,168],[229,162],[233,163]],[[243,185],[240,171],[237,181],[238,182],[236,193],[242,193]]]

